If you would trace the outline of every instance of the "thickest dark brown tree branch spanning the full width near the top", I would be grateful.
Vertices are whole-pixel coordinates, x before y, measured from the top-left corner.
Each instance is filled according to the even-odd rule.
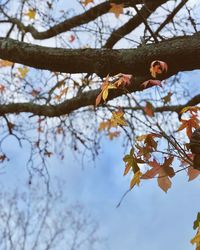
[[[167,76],[200,68],[200,33],[176,37],[136,49],[61,49],[0,38],[0,57],[38,69],[66,73],[120,72],[143,76],[153,60],[165,61]]]

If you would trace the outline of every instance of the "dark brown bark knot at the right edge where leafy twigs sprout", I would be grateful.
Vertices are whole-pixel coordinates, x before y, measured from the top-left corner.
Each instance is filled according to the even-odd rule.
[[[193,167],[200,170],[200,128],[192,133],[190,149],[193,154]]]

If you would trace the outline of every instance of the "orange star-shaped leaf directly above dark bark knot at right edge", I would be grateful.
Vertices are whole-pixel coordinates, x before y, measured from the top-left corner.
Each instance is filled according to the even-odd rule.
[[[177,131],[181,131],[183,129],[186,129],[186,134],[188,138],[190,139],[192,137],[192,130],[193,128],[200,128],[200,121],[197,118],[196,115],[192,115],[192,117],[188,120],[181,119],[181,126],[178,128]]]

